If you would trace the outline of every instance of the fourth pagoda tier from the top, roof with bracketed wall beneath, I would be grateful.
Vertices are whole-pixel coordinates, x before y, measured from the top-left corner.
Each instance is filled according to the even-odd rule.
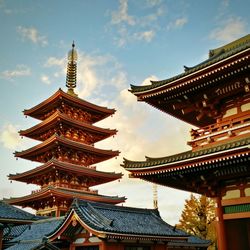
[[[57,186],[79,190],[88,190],[89,187],[114,181],[121,177],[121,173],[101,172],[97,171],[95,167],[79,167],[79,165],[55,159],[29,171],[9,175],[10,180],[36,184],[41,187]]]

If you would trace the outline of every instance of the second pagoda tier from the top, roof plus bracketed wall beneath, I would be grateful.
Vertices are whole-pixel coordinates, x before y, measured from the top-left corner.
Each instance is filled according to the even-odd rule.
[[[57,110],[41,123],[29,129],[21,130],[19,133],[21,136],[40,141],[47,140],[56,133],[74,141],[94,144],[115,135],[117,130],[99,128],[89,123],[72,119]]]

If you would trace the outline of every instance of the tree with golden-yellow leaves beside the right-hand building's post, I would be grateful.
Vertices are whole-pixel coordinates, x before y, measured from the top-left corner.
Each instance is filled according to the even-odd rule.
[[[177,228],[202,239],[210,240],[210,250],[216,249],[215,203],[202,195],[191,194],[185,201],[184,209]]]

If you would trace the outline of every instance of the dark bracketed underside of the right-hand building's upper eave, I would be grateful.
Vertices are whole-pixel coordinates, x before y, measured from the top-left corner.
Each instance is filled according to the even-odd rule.
[[[166,87],[154,95],[139,96],[138,100],[197,127],[214,124],[223,114],[226,103],[248,94],[245,86],[249,83],[245,79],[250,79],[249,59],[241,64],[214,75],[206,73],[207,76],[186,86],[184,81],[170,91],[166,91]]]

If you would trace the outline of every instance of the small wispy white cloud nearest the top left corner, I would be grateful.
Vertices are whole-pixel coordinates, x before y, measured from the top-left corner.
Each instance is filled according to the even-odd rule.
[[[38,30],[34,27],[26,28],[23,26],[18,26],[17,32],[24,40],[29,40],[32,43],[40,44],[42,46],[48,45],[47,37],[40,35]]]

